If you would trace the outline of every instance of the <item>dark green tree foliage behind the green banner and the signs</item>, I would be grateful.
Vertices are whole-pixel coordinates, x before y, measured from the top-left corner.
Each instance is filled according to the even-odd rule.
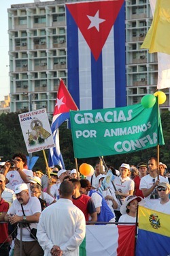
[[[160,146],[160,161],[166,165],[170,165],[169,162],[169,139],[170,139],[170,112],[166,111],[161,114],[163,134],[165,139],[165,145]],[[24,143],[22,130],[18,119],[18,113],[7,113],[0,115],[0,156],[3,156],[2,160],[11,159],[16,152],[22,152],[26,155],[27,148]],[[73,143],[71,137],[71,130],[67,128],[67,122],[64,122],[59,128],[60,147],[66,169],[75,168],[75,159],[73,155]],[[94,149],[95,150],[95,149]],[[48,158],[49,150],[46,150],[46,156]],[[41,168],[43,171],[46,168],[45,160],[42,152],[35,152],[33,156],[39,156],[35,164],[36,168]],[[137,165],[139,162],[148,162],[150,156],[157,156],[156,147],[151,147],[147,150],[141,150],[131,154],[120,154],[116,156],[105,156],[105,162],[107,165],[112,165],[116,169],[120,167],[122,162],[127,162],[130,165]],[[99,162],[99,158],[82,158],[78,159],[78,166],[82,162],[87,162],[90,165],[95,165]]]

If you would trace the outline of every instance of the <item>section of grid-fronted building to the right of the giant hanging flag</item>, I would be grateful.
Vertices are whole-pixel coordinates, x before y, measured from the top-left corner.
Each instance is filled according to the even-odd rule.
[[[126,99],[127,104],[141,102],[146,94],[154,94],[158,81],[157,53],[148,53],[141,44],[152,23],[149,0],[126,1]],[[169,88],[161,111],[170,109]]]

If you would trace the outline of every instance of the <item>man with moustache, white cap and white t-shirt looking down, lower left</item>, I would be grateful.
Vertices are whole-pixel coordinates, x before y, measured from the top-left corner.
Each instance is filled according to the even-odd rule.
[[[36,238],[37,222],[41,214],[39,199],[29,196],[29,189],[25,183],[16,185],[15,194],[16,200],[5,215],[5,221],[10,222],[11,225],[19,224],[14,246],[14,256],[44,255],[44,251]],[[22,240],[22,247],[20,240]],[[22,254],[20,254],[20,251],[22,251]]]

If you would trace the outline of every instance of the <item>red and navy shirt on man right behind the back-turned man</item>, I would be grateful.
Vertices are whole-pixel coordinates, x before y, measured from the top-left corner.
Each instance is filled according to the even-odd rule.
[[[88,219],[89,214],[96,212],[95,204],[93,203],[91,197],[88,197],[88,195],[82,194],[80,195],[80,197],[78,198],[72,197],[72,199],[73,199],[73,204],[77,206],[84,213],[86,221],[89,221]]]

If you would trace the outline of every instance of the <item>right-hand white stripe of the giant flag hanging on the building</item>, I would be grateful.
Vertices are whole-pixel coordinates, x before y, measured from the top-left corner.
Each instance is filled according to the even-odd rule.
[[[115,107],[114,26],[103,46],[103,108]]]

